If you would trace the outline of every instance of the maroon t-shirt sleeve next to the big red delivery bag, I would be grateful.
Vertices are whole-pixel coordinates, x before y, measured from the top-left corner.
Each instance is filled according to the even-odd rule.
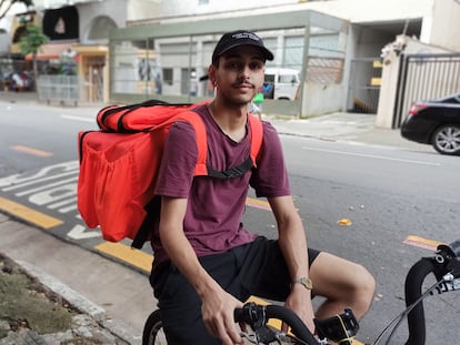
[[[188,197],[197,160],[198,148],[193,128],[187,122],[176,122],[164,142],[154,193]]]

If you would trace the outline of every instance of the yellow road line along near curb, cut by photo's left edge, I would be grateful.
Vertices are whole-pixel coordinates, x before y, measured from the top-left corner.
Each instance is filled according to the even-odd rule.
[[[63,224],[61,220],[54,219],[4,197],[0,197],[0,210],[29,223],[33,223],[42,229],[51,229]]]

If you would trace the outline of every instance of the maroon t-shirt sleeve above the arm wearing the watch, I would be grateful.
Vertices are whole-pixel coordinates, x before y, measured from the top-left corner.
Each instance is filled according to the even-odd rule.
[[[268,122],[263,122],[263,142],[257,163],[258,168],[250,181],[257,196],[274,197],[291,194],[281,141],[277,130]]]

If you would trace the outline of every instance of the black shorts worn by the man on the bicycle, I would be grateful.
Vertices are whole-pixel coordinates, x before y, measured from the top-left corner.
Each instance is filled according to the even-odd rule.
[[[319,253],[309,248],[310,265]],[[277,241],[258,237],[199,261],[227,292],[242,302],[251,295],[284,301],[290,293],[291,277]],[[208,335],[201,317],[201,301],[172,263],[156,268],[150,283],[169,344],[221,344]]]

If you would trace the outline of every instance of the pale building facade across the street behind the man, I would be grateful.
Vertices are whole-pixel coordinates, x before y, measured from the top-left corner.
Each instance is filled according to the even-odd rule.
[[[80,57],[78,70],[88,88],[92,90],[94,81],[102,80],[103,101],[193,101],[211,95],[212,90],[200,77],[206,74],[213,44],[227,29],[257,31],[276,52],[268,68],[299,71],[298,99],[282,103],[268,99],[264,109],[288,109],[289,114],[303,116],[332,111],[389,113],[382,106],[389,104],[388,98],[394,92],[387,92],[384,102],[379,103],[379,99],[382,90],[394,88],[382,88],[386,82],[393,83],[394,78],[388,79],[384,70],[389,64],[382,63],[382,55],[398,37],[410,38],[411,49],[422,53],[460,51],[456,39],[460,4],[456,0],[83,0],[71,7],[62,0],[34,3],[46,18],[43,27],[57,37],[50,45],[71,44]],[[66,26],[60,16],[64,11],[77,14],[77,24]],[[62,32],[62,21],[69,34],[64,40],[56,31]],[[90,99],[100,93],[86,91]]]

